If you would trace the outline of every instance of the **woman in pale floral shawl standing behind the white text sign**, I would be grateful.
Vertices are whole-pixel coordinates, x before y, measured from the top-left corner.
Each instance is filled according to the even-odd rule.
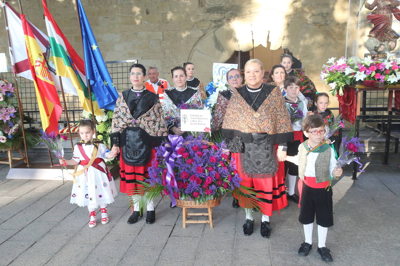
[[[203,107],[200,91],[186,86],[186,70],[183,67],[171,69],[175,87],[164,91],[162,110],[167,123],[168,132],[173,135],[181,135],[183,138],[188,133],[180,130],[180,107],[186,104],[188,108]]]

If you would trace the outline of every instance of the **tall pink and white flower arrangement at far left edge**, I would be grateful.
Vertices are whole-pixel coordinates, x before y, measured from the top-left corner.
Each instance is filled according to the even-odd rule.
[[[20,148],[23,144],[18,101],[12,83],[0,78],[0,150]],[[25,132],[28,147],[35,143],[31,134]]]

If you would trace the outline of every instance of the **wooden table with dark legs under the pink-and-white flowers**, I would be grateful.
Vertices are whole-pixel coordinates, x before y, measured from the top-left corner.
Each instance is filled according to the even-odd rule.
[[[385,151],[383,152],[384,159],[383,164],[386,166],[388,164],[389,158],[389,144],[390,144],[390,131],[392,127],[392,122],[400,122],[400,115],[394,115],[393,111],[399,111],[393,108],[393,93],[394,91],[400,91],[400,85],[389,85],[384,88],[371,88],[365,87],[364,85],[348,85],[344,89],[352,89],[356,91],[356,110],[355,110],[355,127],[356,127],[356,137],[359,137],[360,130],[360,120],[363,122],[381,122],[386,121],[388,124],[388,129],[386,132],[386,142]],[[366,92],[367,91],[387,91],[389,93],[388,101],[386,107],[366,107]],[[366,115],[366,111],[384,111],[388,112],[387,115]],[[379,154],[379,153],[377,153]],[[357,179],[358,164],[353,163],[353,176],[352,179]]]

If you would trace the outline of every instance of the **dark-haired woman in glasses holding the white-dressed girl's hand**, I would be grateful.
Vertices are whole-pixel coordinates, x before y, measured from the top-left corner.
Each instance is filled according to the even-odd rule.
[[[132,192],[140,187],[137,181],[148,177],[148,167],[155,157],[154,146],[168,140],[168,131],[159,97],[144,87],[146,69],[134,64],[129,73],[132,88],[119,93],[111,124],[111,146],[120,147],[120,191],[137,201]],[[128,223],[136,223],[140,216],[139,204],[132,206]],[[156,219],[154,204],[148,202],[146,223]]]

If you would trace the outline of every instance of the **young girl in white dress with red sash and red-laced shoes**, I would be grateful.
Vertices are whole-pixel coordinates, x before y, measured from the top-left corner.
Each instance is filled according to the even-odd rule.
[[[71,201],[78,206],[88,206],[89,227],[96,226],[96,208],[100,205],[102,215],[101,223],[108,223],[107,204],[114,202],[117,195],[114,179],[104,162],[104,158],[114,158],[118,154],[118,148],[110,150],[100,140],[93,139],[94,124],[92,120],[82,120],[79,123],[80,140],[74,146],[72,159],[60,159],[60,164],[77,165],[74,173],[74,185],[72,186]],[[94,149],[96,151],[94,152]],[[92,163],[90,164],[90,161]]]

